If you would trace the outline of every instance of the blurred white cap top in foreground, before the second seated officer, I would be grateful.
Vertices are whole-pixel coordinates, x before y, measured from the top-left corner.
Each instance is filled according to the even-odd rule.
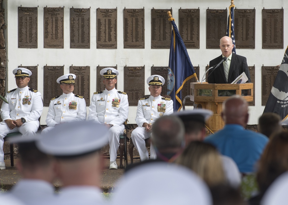
[[[36,145],[46,154],[71,158],[100,150],[108,143],[107,134],[105,125],[72,121],[59,124],[48,133],[42,134]]]

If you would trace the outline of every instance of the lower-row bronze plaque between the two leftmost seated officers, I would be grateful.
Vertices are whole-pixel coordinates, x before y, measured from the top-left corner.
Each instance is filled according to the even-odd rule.
[[[56,82],[64,75],[64,66],[44,66],[44,106],[49,106],[52,98],[61,95],[62,89]]]

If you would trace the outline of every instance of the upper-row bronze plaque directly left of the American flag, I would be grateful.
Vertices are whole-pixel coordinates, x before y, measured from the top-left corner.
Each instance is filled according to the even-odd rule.
[[[219,49],[219,40],[226,36],[227,9],[207,9],[206,49]]]

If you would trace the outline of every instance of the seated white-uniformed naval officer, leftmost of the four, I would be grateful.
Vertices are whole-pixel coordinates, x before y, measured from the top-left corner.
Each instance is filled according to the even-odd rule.
[[[5,95],[8,103],[3,102],[0,115],[0,169],[5,169],[3,138],[11,132],[20,132],[23,136],[33,136],[39,127],[38,118],[43,110],[40,92],[28,87],[32,72],[26,68],[13,70],[17,88]]]

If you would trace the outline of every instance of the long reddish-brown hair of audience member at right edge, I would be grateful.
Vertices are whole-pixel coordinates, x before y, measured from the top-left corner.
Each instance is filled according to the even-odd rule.
[[[257,183],[260,192],[268,189],[282,173],[288,171],[288,132],[282,131],[271,136],[259,160]]]

